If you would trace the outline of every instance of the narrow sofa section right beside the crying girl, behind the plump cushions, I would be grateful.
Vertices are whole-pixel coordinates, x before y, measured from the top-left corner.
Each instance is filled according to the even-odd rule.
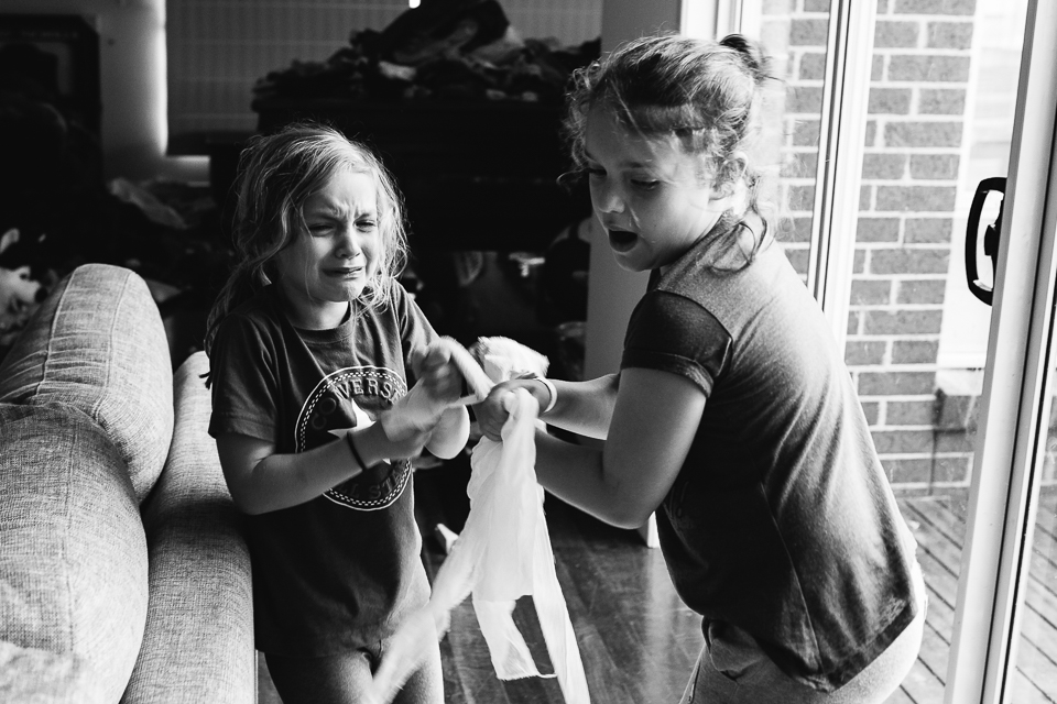
[[[151,596],[126,704],[254,700],[250,553],[206,431],[207,369],[196,352],[176,372],[173,447],[143,505]]]

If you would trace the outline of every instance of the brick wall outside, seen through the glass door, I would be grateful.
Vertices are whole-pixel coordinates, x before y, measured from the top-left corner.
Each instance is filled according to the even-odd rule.
[[[806,271],[829,0],[764,0],[762,38],[787,77],[783,197]],[[965,486],[974,396],[937,389],[937,350],[976,0],[878,0],[846,359],[893,484]],[[777,51],[775,51],[777,50]],[[954,253],[960,255],[960,253]]]

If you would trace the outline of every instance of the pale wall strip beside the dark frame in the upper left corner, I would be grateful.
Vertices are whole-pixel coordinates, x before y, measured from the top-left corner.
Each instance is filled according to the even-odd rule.
[[[165,0],[3,0],[3,11],[77,14],[96,28],[106,178],[208,179],[207,160],[165,156]]]

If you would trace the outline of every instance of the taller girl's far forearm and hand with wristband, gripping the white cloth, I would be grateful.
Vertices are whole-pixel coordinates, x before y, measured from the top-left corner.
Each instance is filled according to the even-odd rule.
[[[483,402],[473,407],[481,432],[492,440],[501,439],[506,422],[502,397],[515,388],[524,388],[540,404],[541,418],[547,424],[588,438],[606,439],[613,418],[619,383],[617,374],[608,374],[588,382],[551,380],[556,393],[554,408],[543,410],[551,403],[551,392],[542,382],[515,378],[497,384]]]

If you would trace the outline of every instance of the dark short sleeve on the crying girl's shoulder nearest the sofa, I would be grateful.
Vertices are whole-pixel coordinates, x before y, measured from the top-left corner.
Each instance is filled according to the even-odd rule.
[[[230,316],[224,321],[209,355],[210,436],[237,433],[275,441],[279,383],[273,358],[269,336],[252,320]]]

